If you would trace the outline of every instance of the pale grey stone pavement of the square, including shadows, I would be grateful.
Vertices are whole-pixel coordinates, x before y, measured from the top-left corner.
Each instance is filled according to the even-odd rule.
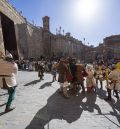
[[[15,110],[3,113],[8,95],[0,90],[0,129],[120,128],[120,101],[104,101],[105,89],[65,99],[51,81],[50,74],[39,81],[36,72],[19,71]]]

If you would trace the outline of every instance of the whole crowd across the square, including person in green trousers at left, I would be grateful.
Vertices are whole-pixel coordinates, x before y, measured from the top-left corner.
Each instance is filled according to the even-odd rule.
[[[70,98],[69,91],[72,91],[72,94],[76,96],[81,90],[83,94],[86,92],[95,93],[98,88],[102,90],[105,86],[108,93],[107,98],[105,98],[106,101],[112,100],[112,90],[116,98],[119,99],[120,61],[112,65],[108,65],[102,60],[93,64],[83,64],[75,58],[63,57],[52,61],[45,59],[40,61],[14,61],[10,53],[5,56],[0,52],[0,87],[7,87],[9,94],[5,112],[14,109],[11,107],[11,103],[17,86],[16,75],[18,70],[37,71],[40,80],[44,79],[45,72],[51,73],[52,82],[59,82],[59,92],[65,98]]]

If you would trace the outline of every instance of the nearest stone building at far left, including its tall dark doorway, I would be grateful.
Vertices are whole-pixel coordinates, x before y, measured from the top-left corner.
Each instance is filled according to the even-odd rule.
[[[26,20],[6,1],[0,1],[0,49],[10,51],[15,58],[22,56],[19,47],[23,48],[26,42],[25,26]],[[24,27],[25,28],[25,27]],[[25,44],[26,45],[26,44]],[[25,46],[26,47],[26,46]],[[27,56],[26,50],[26,56]]]

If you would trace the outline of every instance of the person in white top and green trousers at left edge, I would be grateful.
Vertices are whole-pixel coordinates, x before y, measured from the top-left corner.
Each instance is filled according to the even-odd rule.
[[[17,64],[13,61],[13,56],[9,53],[6,56],[0,56],[0,88],[7,87],[8,101],[6,104],[5,112],[13,110],[11,107],[15,95],[16,75],[18,71]]]

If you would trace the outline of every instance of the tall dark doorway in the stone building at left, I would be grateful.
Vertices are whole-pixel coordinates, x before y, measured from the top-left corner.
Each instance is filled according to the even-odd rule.
[[[13,55],[13,58],[17,60],[18,51],[14,22],[3,13],[0,13],[0,15],[5,51],[10,52]]]

